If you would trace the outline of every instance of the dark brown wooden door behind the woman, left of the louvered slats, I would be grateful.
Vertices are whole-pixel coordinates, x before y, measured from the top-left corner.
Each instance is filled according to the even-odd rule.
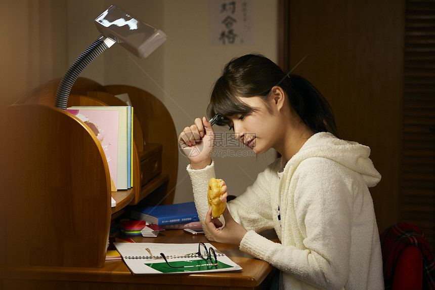
[[[281,0],[279,7],[280,65],[329,100],[342,139],[372,150],[382,180],[370,191],[382,231],[399,219],[405,2]]]

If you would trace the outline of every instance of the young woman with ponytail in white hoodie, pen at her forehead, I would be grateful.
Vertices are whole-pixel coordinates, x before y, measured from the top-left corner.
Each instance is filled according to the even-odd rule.
[[[380,174],[370,148],[337,138],[332,111],[313,85],[266,57],[245,55],[225,66],[207,113],[222,114],[218,125],[228,125],[256,154],[274,148],[282,156],[227,203],[223,219],[213,219],[213,129],[205,117],[184,129],[179,142],[207,238],[269,262],[280,270],[281,289],[382,289],[368,190]],[[280,243],[259,234],[272,228]]]

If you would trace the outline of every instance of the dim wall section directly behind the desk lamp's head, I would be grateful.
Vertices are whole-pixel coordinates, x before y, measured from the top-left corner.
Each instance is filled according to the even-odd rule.
[[[117,5],[136,17],[164,31],[162,1],[141,0],[74,0],[68,1],[68,62],[72,63],[100,35],[94,20],[111,5]],[[78,21],[77,21],[78,18]],[[130,85],[147,90],[164,102],[159,86],[164,79],[164,47],[148,58],[139,59],[115,44],[86,67],[80,76],[102,85]],[[147,74],[152,76],[147,77]]]

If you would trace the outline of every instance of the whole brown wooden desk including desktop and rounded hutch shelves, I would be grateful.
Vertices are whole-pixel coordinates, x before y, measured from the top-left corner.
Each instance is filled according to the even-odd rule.
[[[149,93],[129,86],[103,87],[78,78],[74,87],[79,86],[73,87],[68,106],[119,105],[115,95],[128,93],[135,107],[134,185],[112,194],[107,160],[95,134],[72,114],[53,107],[59,81],[41,85],[9,106],[8,122],[0,124],[0,136],[8,140],[0,142],[4,169],[0,174],[0,290],[258,286],[271,266],[235,246],[219,243],[215,246],[243,267],[243,272],[133,276],[123,261],[105,261],[113,215],[140,201],[154,205],[164,198],[165,204],[172,203],[178,134],[167,109]],[[165,134],[156,128],[163,128]],[[148,160],[145,149],[151,143],[162,146],[162,168],[148,180],[142,165]],[[110,207],[111,196],[117,201],[115,208]],[[172,230],[142,240],[185,243],[205,238]]]

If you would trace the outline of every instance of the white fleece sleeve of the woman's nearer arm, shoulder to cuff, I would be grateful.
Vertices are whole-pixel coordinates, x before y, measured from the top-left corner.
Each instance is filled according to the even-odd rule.
[[[249,231],[240,250],[269,262],[290,278],[339,289],[350,271],[354,177],[334,161],[310,159],[303,161],[305,169],[295,171],[295,184],[288,185],[294,195],[288,195],[281,209],[286,211],[281,244]],[[293,239],[293,232],[302,235],[300,242],[288,240]]]

